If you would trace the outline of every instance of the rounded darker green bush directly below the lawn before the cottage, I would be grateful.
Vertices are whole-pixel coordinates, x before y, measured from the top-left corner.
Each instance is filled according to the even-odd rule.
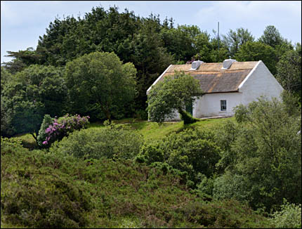
[[[174,169],[186,171],[190,181],[198,182],[198,174],[211,177],[216,172],[219,148],[204,131],[186,129],[171,133],[157,142],[145,143],[136,158],[138,162],[166,162]]]

